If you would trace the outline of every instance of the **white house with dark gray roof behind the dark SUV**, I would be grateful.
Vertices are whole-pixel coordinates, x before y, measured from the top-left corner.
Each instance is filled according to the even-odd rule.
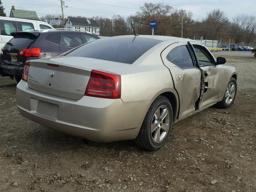
[[[96,35],[100,35],[100,26],[95,20],[77,18],[77,17],[68,17],[65,24],[66,29],[80,29],[89,31]]]

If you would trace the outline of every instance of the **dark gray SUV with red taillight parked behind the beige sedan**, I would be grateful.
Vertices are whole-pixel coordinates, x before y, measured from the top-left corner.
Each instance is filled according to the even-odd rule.
[[[23,31],[11,33],[13,38],[1,51],[2,76],[21,80],[26,60],[49,58],[84,43],[99,39],[89,32],[70,30]]]

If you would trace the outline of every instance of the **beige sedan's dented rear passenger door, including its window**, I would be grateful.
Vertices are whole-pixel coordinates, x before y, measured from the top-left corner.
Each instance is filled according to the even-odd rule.
[[[171,44],[162,52],[161,57],[170,70],[179,95],[178,119],[194,114],[200,98],[201,70],[196,67],[191,46],[187,42]]]

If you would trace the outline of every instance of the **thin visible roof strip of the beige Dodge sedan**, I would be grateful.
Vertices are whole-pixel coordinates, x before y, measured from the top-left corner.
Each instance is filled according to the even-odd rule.
[[[120,36],[119,36],[120,37]],[[138,37],[138,38],[148,38],[148,39],[154,39],[159,41],[167,41],[170,40],[171,42],[183,42],[183,41],[194,41],[192,39],[188,38],[180,38],[180,37],[172,37],[172,36],[163,36],[163,35],[124,35],[121,37]]]

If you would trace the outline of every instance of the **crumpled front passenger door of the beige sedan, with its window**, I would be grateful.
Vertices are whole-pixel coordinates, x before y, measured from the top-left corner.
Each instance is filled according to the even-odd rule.
[[[204,46],[193,42],[192,48],[203,77],[203,92],[199,101],[199,109],[202,110],[220,100],[223,92],[221,81],[224,79],[224,68],[222,65],[216,65],[214,57]]]

